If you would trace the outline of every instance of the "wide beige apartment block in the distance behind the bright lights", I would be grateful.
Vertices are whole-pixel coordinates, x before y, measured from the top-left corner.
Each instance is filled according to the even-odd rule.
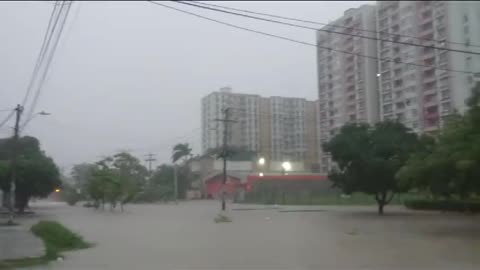
[[[223,109],[230,108],[228,144],[245,147],[269,161],[318,164],[317,103],[303,98],[260,97],[222,88],[202,99],[202,148],[221,147]]]

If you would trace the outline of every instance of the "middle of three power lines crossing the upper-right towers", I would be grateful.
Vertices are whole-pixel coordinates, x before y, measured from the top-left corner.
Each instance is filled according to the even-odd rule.
[[[464,54],[480,55],[480,52],[472,52],[472,51],[449,49],[449,48],[440,48],[440,47],[433,46],[433,45],[421,45],[421,44],[409,43],[409,42],[404,42],[404,41],[394,41],[394,40],[382,39],[382,38],[378,38],[378,37],[369,37],[369,36],[362,36],[362,35],[356,35],[356,34],[350,34],[350,33],[343,33],[343,32],[338,32],[338,31],[333,31],[333,30],[327,30],[327,29],[318,29],[318,28],[315,28],[315,27],[309,27],[309,26],[304,26],[304,25],[299,25],[299,24],[276,21],[276,20],[272,20],[272,19],[265,19],[265,18],[261,18],[261,17],[256,17],[256,16],[251,16],[251,15],[226,11],[226,10],[217,9],[217,8],[211,8],[211,7],[197,5],[197,4],[192,4],[192,3],[188,3],[188,2],[184,2],[184,1],[173,1],[173,2],[179,3],[179,4],[184,4],[184,5],[189,5],[189,6],[193,6],[193,7],[198,7],[198,8],[202,8],[202,9],[227,13],[227,14],[231,14],[231,15],[235,15],[235,16],[240,16],[240,17],[245,17],[245,18],[250,18],[250,19],[255,19],[255,20],[261,20],[261,21],[266,21],[266,22],[271,22],[271,23],[277,23],[277,24],[282,24],[282,25],[297,27],[297,28],[303,28],[303,29],[308,29],[308,30],[313,30],[313,31],[326,32],[326,33],[344,35],[344,36],[351,36],[351,37],[359,37],[359,38],[377,40],[377,41],[385,41],[385,42],[390,42],[390,43],[397,43],[397,44],[426,48],[426,49],[436,49],[436,50],[449,51],[449,52],[458,52],[458,53],[464,53]]]

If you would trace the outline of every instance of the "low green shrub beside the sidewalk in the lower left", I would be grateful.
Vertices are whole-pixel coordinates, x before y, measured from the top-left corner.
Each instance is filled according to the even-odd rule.
[[[31,231],[45,243],[45,256],[49,259],[56,259],[62,251],[90,247],[81,236],[56,221],[40,221]]]

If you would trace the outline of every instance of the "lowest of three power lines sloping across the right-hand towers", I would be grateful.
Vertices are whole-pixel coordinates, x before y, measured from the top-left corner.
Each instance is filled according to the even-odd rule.
[[[359,53],[338,50],[338,49],[334,49],[334,48],[330,48],[330,47],[319,46],[317,44],[313,44],[313,43],[309,43],[309,42],[305,42],[305,41],[300,41],[300,40],[292,39],[292,38],[285,37],[285,36],[270,34],[270,33],[267,33],[267,32],[262,32],[262,31],[259,31],[259,30],[254,30],[254,29],[251,29],[251,28],[227,23],[227,22],[220,21],[220,20],[217,20],[217,19],[212,19],[210,17],[206,17],[206,16],[203,16],[203,15],[200,15],[200,14],[197,14],[197,13],[189,12],[189,11],[186,11],[186,10],[183,10],[183,9],[167,6],[167,5],[160,4],[160,3],[157,3],[157,2],[154,2],[154,1],[148,1],[148,2],[150,2],[152,4],[155,4],[155,5],[158,5],[158,6],[162,6],[162,7],[167,8],[167,9],[173,9],[173,10],[176,10],[176,11],[181,12],[181,13],[189,14],[189,15],[192,15],[192,16],[197,17],[197,18],[201,18],[201,19],[204,19],[204,20],[207,20],[207,21],[216,22],[216,23],[226,25],[226,26],[229,26],[229,27],[233,27],[233,28],[236,28],[236,29],[241,29],[241,30],[244,30],[244,31],[247,31],[247,32],[252,32],[252,33],[256,33],[256,34],[260,34],[260,35],[264,35],[264,36],[274,37],[274,38],[277,38],[277,39],[287,40],[287,41],[302,44],[302,45],[312,46],[312,47],[316,47],[316,48],[319,48],[319,49],[336,51],[336,52],[340,52],[340,53],[344,53],[344,54],[350,54],[350,55],[356,55],[356,56],[359,56],[359,57],[369,58],[369,59],[373,59],[373,60],[394,62],[394,63],[397,63],[397,64],[405,64],[405,65],[418,66],[418,67],[428,67],[428,68],[434,68],[436,70],[443,70],[443,71],[449,71],[449,72],[455,72],[455,73],[475,74],[474,72],[465,71],[465,70],[440,68],[440,67],[437,67],[437,66],[434,66],[434,65],[422,65],[422,64],[416,64],[416,63],[405,63],[405,62],[402,62],[402,61],[397,61],[397,60],[392,60],[392,59],[387,59],[387,58],[363,55],[363,54],[359,54]]]

